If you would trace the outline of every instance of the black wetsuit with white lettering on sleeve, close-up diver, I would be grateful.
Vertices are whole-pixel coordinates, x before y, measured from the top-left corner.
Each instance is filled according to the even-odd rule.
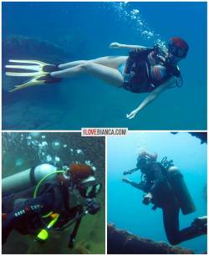
[[[13,197],[3,198],[3,243],[7,241],[13,229],[23,235],[35,234],[38,228],[43,227],[41,216],[48,212],[68,214],[66,217],[69,218],[69,198],[65,187],[53,182],[45,183],[40,193],[37,198],[14,202]],[[9,203],[12,207],[8,207]]]

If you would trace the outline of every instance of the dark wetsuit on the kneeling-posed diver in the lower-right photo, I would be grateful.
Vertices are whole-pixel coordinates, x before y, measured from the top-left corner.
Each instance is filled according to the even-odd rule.
[[[145,182],[131,185],[144,192],[150,192],[153,196],[151,202],[155,207],[161,207],[166,237],[171,244],[181,243],[202,234],[195,226],[179,228],[179,202],[172,190],[171,184],[166,177],[165,168],[161,163],[151,163],[145,167]]]

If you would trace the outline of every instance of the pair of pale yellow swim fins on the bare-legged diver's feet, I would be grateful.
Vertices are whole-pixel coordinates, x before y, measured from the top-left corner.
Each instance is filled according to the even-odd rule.
[[[31,72],[6,72],[6,75],[16,77],[33,77],[32,79],[29,79],[27,82],[23,84],[16,85],[14,89],[9,90],[9,92],[22,90],[23,88],[27,88],[38,84],[57,83],[61,80],[59,78],[54,78],[50,75],[51,72],[59,70],[58,66],[54,64],[47,64],[39,60],[20,59],[9,59],[9,62],[15,63],[17,65],[6,65],[6,69],[24,69],[29,70]]]

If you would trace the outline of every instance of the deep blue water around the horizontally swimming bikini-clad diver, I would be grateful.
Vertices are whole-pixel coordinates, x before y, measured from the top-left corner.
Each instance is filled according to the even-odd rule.
[[[127,50],[109,49],[109,44],[152,46],[172,36],[185,38],[190,51],[180,63],[184,86],[164,92],[134,120],[125,114],[145,95],[116,89],[89,75],[13,94],[6,91],[19,81],[3,76],[3,129],[206,129],[206,3],[3,3],[3,42],[11,36],[48,41],[68,53],[54,56],[54,51],[42,53],[38,48],[32,53],[28,45],[15,52],[18,59],[33,55],[53,63],[124,55]],[[3,65],[14,58],[12,54],[3,50]]]

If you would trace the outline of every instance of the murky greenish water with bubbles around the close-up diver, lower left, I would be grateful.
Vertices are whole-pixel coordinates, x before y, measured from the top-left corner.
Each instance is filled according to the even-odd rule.
[[[9,177],[41,163],[58,168],[72,162],[93,166],[95,177],[103,184],[97,197],[101,203],[95,215],[86,215],[80,224],[74,248],[69,249],[69,234],[74,226],[62,232],[50,232],[45,243],[35,241],[33,235],[10,233],[3,244],[3,253],[104,253],[105,252],[105,156],[104,138],[81,137],[80,133],[3,133],[3,177]],[[15,197],[18,197],[14,193]],[[25,194],[22,198],[28,198]]]

